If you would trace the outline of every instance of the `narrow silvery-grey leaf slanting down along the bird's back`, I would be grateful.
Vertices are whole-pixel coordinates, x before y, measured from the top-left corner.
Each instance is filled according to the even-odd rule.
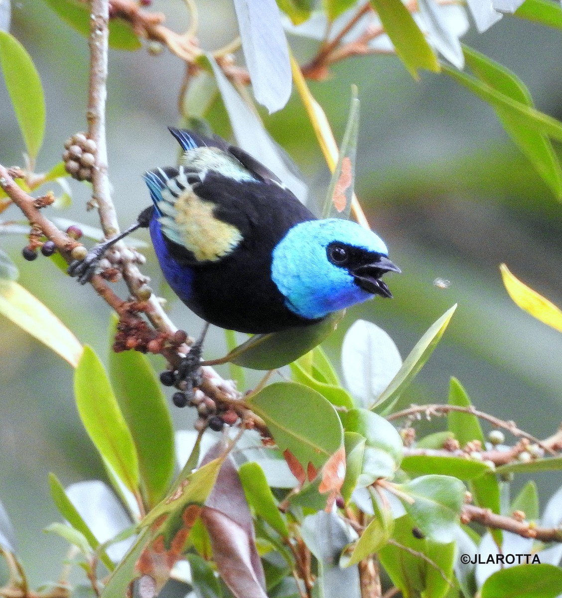
[[[211,54],[204,56],[200,63],[215,75],[236,144],[249,154],[259,157],[262,164],[279,176],[301,202],[304,201],[307,187],[301,177],[295,174],[297,166],[273,141],[253,107],[248,106],[240,97]]]

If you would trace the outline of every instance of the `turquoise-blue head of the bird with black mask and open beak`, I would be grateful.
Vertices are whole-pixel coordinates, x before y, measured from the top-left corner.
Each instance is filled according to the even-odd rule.
[[[387,256],[383,240],[355,222],[300,222],[274,248],[271,279],[292,312],[323,318],[373,295],[392,297],[381,276],[400,269]]]

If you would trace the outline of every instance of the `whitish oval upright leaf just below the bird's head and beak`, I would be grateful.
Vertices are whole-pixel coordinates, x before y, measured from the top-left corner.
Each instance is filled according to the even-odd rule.
[[[346,386],[361,407],[371,405],[402,366],[392,338],[377,325],[358,320],[346,332],[341,367]]]

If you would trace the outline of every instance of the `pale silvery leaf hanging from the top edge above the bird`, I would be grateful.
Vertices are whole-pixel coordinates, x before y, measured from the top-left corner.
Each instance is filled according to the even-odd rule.
[[[275,0],[234,0],[255,99],[276,112],[291,96],[291,65]]]

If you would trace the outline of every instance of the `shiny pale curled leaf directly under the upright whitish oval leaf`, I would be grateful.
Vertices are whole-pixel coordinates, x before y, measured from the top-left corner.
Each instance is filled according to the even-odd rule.
[[[346,432],[365,438],[361,474],[356,485],[369,486],[378,478],[393,478],[402,460],[402,438],[384,417],[366,409],[341,414]]]

